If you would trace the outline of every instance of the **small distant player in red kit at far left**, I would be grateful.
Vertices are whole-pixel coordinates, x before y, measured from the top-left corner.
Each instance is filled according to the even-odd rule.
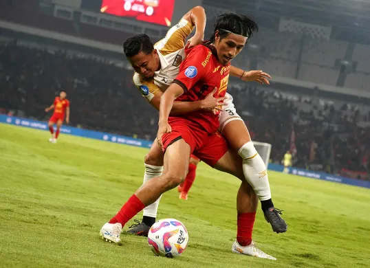
[[[69,123],[69,100],[67,100],[67,93],[65,91],[61,91],[59,93],[59,97],[54,99],[54,103],[45,109],[45,112],[48,112],[54,109],[54,113],[50,118],[47,126],[49,126],[50,133],[52,133],[52,137],[49,139],[49,142],[53,144],[56,143],[56,139],[58,139],[59,133],[61,132],[61,126],[64,122]],[[56,124],[56,132],[54,133],[54,124]]]

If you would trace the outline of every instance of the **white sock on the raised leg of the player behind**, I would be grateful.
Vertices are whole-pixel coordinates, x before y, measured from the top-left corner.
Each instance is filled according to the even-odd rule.
[[[243,158],[243,172],[246,180],[254,189],[260,201],[271,199],[270,183],[265,162],[262,160],[253,142],[247,142],[238,151]]]

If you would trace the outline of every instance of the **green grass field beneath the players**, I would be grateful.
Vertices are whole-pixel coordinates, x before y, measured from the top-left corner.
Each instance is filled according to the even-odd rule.
[[[370,267],[370,191],[270,172],[289,225],[275,234],[260,209],[254,241],[278,260],[231,253],[237,179],[201,164],[188,201],[162,198],[190,240],[177,259],[153,256],[146,238],[122,246],[98,232],[142,183],[146,150],[0,124],[0,267]],[[141,219],[141,214],[136,217]]]

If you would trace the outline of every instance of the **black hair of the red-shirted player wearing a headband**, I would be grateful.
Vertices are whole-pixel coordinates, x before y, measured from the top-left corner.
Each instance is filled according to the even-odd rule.
[[[226,13],[217,16],[215,30],[212,36],[210,36],[211,42],[215,42],[215,34],[217,30],[219,31],[221,39],[228,36],[230,32],[250,38],[254,32],[258,32],[259,27],[252,16]]]

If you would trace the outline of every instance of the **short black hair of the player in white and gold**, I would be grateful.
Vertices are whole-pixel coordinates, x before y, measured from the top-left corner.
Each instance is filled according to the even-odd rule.
[[[137,55],[139,52],[151,54],[154,45],[146,34],[137,34],[127,38],[123,43],[123,52],[129,58]]]

